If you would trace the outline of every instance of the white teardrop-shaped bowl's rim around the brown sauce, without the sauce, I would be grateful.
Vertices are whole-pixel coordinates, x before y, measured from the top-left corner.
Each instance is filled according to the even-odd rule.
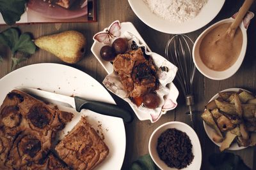
[[[214,71],[212,69],[209,69],[207,66],[205,66],[205,64],[202,62],[200,58],[199,48],[204,36],[209,31],[214,29],[214,27],[220,24],[232,22],[233,20],[234,18],[227,18],[225,20],[221,20],[220,22],[216,22],[215,24],[211,25],[211,27],[209,27],[208,29],[205,29],[205,31],[202,32],[200,36],[198,36],[198,38],[195,41],[195,45],[193,46],[193,60],[196,68],[198,69],[198,71],[200,71],[200,73],[204,74],[204,76],[206,76],[207,78],[211,78],[212,80],[224,80],[226,78],[229,78],[230,76],[236,73],[236,71],[239,69],[239,67],[243,62],[244,55],[246,52],[246,46],[247,46],[247,34],[246,34],[246,29],[244,28],[243,22],[239,25],[243,34],[243,45],[241,48],[240,55],[236,60],[236,62],[233,64],[233,66],[226,69],[225,71]]]

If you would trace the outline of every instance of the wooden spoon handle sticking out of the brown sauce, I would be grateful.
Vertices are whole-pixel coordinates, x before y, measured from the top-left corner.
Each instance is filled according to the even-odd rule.
[[[231,39],[234,38],[237,27],[239,27],[240,23],[242,22],[244,16],[246,15],[247,11],[249,10],[253,2],[254,0],[245,0],[243,6],[238,11],[236,19],[232,22],[232,24],[230,25],[226,32],[226,34],[228,34]]]

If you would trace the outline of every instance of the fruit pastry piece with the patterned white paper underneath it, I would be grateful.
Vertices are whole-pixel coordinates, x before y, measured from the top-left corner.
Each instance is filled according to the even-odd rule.
[[[179,92],[172,83],[177,67],[151,52],[147,45],[140,44],[131,32],[123,32],[120,37],[126,38],[131,48],[124,54],[116,55],[113,72],[102,83],[113,94],[127,101],[140,120],[156,122],[166,111],[177,106]],[[148,93],[159,97],[157,108],[147,108],[143,104],[141,98]]]

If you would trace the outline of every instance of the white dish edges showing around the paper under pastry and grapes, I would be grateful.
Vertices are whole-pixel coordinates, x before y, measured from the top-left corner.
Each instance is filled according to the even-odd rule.
[[[147,44],[145,43],[145,41],[140,36],[139,32],[136,30],[136,28],[134,27],[134,25],[131,22],[122,22],[122,23],[120,23],[120,27],[121,27],[121,29],[120,29],[121,34],[123,32],[131,32],[134,36],[136,36],[136,38],[138,38],[138,40],[140,41],[140,44],[145,45],[145,47],[147,47],[148,52],[151,52],[150,48],[147,46]],[[102,48],[102,46],[104,46],[103,43],[94,41],[91,50],[92,50],[93,55],[95,55],[97,60],[99,60],[100,64],[104,67],[104,69],[107,71],[107,73],[111,74],[113,72],[113,65],[111,64],[111,62],[103,60],[102,57],[100,57],[100,48]],[[157,57],[162,57],[161,55],[158,55],[157,53],[154,53],[154,55],[157,55]],[[170,99],[172,99],[173,103],[175,103],[177,106],[176,100],[177,100],[177,97],[179,96],[179,90],[177,89],[177,87],[175,87],[174,83],[170,83],[170,85],[168,86],[168,89],[170,89],[169,94],[172,94]],[[150,120],[150,122],[156,122],[157,120],[159,120],[161,115],[166,113],[166,110],[163,110],[159,114],[159,117],[157,118],[157,120],[152,120],[152,117],[150,116],[150,114],[141,113],[141,111],[138,110],[138,107],[136,107],[132,104],[129,104],[129,105],[131,106],[132,110],[134,111],[134,113],[140,120]],[[172,108],[172,110],[175,109],[175,107]]]

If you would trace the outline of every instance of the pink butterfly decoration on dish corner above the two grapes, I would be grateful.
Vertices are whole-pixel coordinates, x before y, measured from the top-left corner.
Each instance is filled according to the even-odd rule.
[[[93,36],[93,40],[96,40],[100,43],[110,44],[111,39],[120,36],[121,25],[119,20],[114,21],[108,28],[105,28],[103,31],[98,32]]]

